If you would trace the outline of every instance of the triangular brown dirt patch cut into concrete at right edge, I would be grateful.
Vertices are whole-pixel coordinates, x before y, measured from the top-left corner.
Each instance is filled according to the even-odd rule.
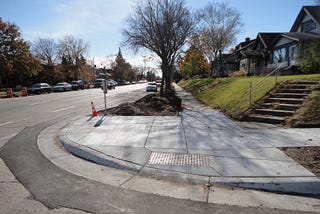
[[[286,147],[280,148],[286,155],[320,177],[320,147]]]

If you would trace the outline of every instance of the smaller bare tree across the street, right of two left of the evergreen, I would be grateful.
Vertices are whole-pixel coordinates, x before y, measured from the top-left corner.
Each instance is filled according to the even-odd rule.
[[[65,36],[58,44],[58,56],[66,70],[72,70],[73,79],[79,79],[79,72],[85,65],[84,55],[88,51],[88,44],[82,39],[75,39],[73,36]]]

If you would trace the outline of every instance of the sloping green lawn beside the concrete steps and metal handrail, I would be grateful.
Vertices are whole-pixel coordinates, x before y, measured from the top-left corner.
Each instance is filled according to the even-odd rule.
[[[208,106],[223,111],[231,118],[238,118],[249,108],[250,82],[254,85],[264,77],[226,77],[190,79],[179,82],[186,91]],[[278,83],[288,80],[320,80],[320,74],[278,76]],[[253,89],[252,103],[263,98],[275,87],[275,76],[267,77]]]

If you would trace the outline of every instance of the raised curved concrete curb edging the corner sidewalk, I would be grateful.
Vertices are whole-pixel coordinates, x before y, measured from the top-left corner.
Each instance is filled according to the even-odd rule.
[[[209,186],[238,187],[289,195],[311,197],[318,197],[320,195],[320,179],[317,177],[212,177],[192,174],[190,172],[166,170],[152,167],[148,164],[139,165],[111,157],[92,148],[72,142],[64,134],[58,135],[58,141],[71,154],[102,166],[126,170],[153,179],[165,179],[174,182],[183,181],[190,182],[191,184],[205,184]]]

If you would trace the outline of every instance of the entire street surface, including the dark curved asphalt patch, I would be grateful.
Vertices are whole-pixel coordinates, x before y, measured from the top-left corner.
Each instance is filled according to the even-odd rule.
[[[145,94],[144,85],[118,87],[107,105]],[[144,194],[58,168],[41,154],[37,137],[59,120],[90,114],[91,101],[104,106],[100,89],[0,100],[0,213],[298,213]]]

